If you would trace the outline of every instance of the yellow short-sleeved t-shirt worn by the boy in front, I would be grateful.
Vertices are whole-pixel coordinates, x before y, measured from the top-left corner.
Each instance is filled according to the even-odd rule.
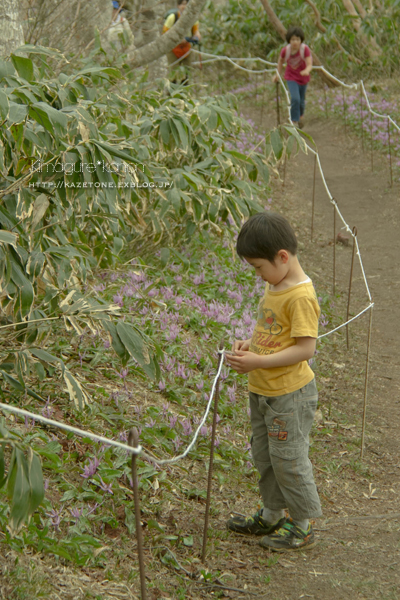
[[[310,281],[279,292],[268,285],[258,307],[250,352],[274,354],[294,346],[297,337],[318,337],[320,308]],[[262,396],[283,396],[304,387],[314,373],[306,360],[288,367],[255,369],[249,373],[249,390]]]

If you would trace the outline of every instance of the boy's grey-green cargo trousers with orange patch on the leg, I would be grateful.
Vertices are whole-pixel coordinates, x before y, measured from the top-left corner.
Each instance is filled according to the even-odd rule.
[[[250,392],[251,449],[264,506],[271,510],[287,508],[294,520],[322,514],[308,458],[308,436],[317,402],[315,379],[284,396]]]

